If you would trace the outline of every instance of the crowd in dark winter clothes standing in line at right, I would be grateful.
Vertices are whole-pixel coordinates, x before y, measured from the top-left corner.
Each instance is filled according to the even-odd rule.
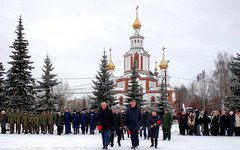
[[[177,114],[181,135],[240,136],[240,111],[207,112],[181,110]]]

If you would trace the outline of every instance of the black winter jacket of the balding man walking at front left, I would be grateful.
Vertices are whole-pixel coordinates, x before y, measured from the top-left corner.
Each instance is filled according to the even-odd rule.
[[[113,127],[113,113],[108,107],[103,110],[100,107],[97,115],[97,124],[102,126],[102,130],[110,130]]]

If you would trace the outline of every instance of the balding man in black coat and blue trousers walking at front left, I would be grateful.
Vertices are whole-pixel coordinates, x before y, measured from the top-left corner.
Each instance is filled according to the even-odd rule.
[[[113,127],[113,121],[112,110],[108,108],[106,102],[102,102],[97,115],[97,123],[102,128],[103,149],[105,150],[108,149],[110,129]]]

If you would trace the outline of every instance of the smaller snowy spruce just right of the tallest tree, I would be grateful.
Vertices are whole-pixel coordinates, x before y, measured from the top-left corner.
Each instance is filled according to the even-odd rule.
[[[38,81],[39,83],[39,88],[43,95],[38,96],[40,99],[40,104],[38,105],[37,110],[41,111],[46,111],[46,110],[57,110],[57,98],[58,96],[54,95],[53,92],[51,91],[54,86],[58,85],[59,82],[55,77],[57,76],[56,74],[52,74],[51,72],[53,71],[53,64],[51,63],[51,60],[49,56],[47,55],[44,65],[43,75],[42,75],[42,81]]]

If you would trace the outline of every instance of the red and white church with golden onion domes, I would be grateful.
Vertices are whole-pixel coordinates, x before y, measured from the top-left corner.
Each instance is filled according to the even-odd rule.
[[[135,62],[136,70],[139,74],[138,83],[142,88],[143,100],[147,102],[149,106],[155,105],[157,99],[160,97],[161,84],[164,84],[168,92],[168,100],[172,103],[173,107],[176,106],[176,91],[171,88],[168,73],[168,61],[165,60],[163,47],[163,56],[161,63],[159,64],[159,71],[157,63],[155,63],[154,72],[151,72],[150,57],[151,55],[144,49],[144,36],[140,34],[141,23],[138,19],[138,12],[136,19],[133,23],[134,35],[130,37],[130,48],[123,55],[124,59],[124,74],[122,76],[114,76],[115,65],[111,58],[108,62],[108,69],[111,72],[112,79],[115,82],[114,93],[116,93],[116,103],[118,106],[124,106],[126,100],[126,94],[128,85],[131,81],[131,73],[133,68],[133,62]],[[165,84],[166,83],[166,84]]]

